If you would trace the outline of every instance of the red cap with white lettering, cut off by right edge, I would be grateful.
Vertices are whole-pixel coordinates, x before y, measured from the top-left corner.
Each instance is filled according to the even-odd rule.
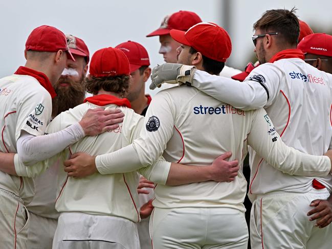
[[[314,33],[303,37],[297,45],[304,54],[332,57],[332,36],[325,33]]]

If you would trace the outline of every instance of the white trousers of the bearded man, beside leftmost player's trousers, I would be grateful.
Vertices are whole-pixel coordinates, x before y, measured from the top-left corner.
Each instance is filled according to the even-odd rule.
[[[36,215],[29,211],[28,249],[52,249],[58,219]]]

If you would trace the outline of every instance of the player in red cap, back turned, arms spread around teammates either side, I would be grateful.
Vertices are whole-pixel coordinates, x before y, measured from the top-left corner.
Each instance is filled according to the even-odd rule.
[[[170,34],[182,43],[179,62],[211,74],[220,73],[231,53],[227,32],[215,24],[202,22],[187,32],[172,30]],[[65,171],[81,176],[97,171],[115,173],[124,165],[134,170],[153,164],[162,154],[170,162],[204,165],[224,151],[232,151],[232,159],[242,165],[247,145],[283,172],[326,176],[330,171],[327,157],[286,147],[264,109],[242,111],[185,84],[163,90],[153,98],[141,137],[134,143],[104,155],[74,154],[65,162]],[[176,167],[170,174],[172,170]],[[158,184],[150,221],[153,247],[247,248],[243,205],[246,186],[241,170],[230,183]]]

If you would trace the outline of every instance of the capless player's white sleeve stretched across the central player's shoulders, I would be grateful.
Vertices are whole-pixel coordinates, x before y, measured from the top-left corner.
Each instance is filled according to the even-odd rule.
[[[243,110],[258,109],[268,101],[267,92],[255,81],[239,82],[197,70],[192,86],[219,101]]]

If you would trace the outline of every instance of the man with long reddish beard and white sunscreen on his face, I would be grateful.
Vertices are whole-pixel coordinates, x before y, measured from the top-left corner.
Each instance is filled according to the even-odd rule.
[[[54,85],[56,97],[52,99],[52,116],[54,119],[62,111],[82,104],[85,98],[83,84],[89,51],[85,42],[75,36],[66,35],[70,52],[75,58],[67,60],[67,64]],[[59,213],[55,210],[58,171],[62,165],[57,161],[46,172],[35,177],[35,194],[27,205],[30,223],[28,229],[29,249],[52,248],[52,242]]]

